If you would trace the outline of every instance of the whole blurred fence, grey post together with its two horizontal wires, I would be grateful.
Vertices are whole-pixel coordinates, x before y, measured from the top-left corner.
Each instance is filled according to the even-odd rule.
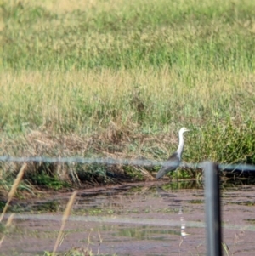
[[[175,162],[161,162],[150,161],[148,159],[114,159],[114,158],[83,158],[83,157],[47,157],[47,156],[27,156],[27,157],[15,157],[15,156],[0,156],[0,162],[51,162],[51,163],[83,163],[83,164],[108,164],[108,165],[136,165],[143,167],[156,167],[166,164],[171,166],[175,165]],[[221,223],[221,202],[220,202],[220,187],[219,187],[219,174],[218,171],[255,171],[255,165],[251,164],[229,164],[229,163],[213,163],[213,162],[198,162],[187,163],[182,162],[180,167],[183,168],[202,168],[205,171],[205,201],[206,201],[206,227],[207,232],[207,256],[221,256],[222,255],[222,223]],[[18,218],[37,218],[35,215],[20,215]],[[42,218],[39,216],[38,218]],[[77,216],[75,217],[77,220]],[[88,219],[86,219],[88,221]],[[94,219],[95,220],[95,219]],[[100,219],[101,221],[111,222],[112,219]],[[116,219],[113,220],[116,222]],[[132,219],[118,219],[122,223],[129,223]],[[140,222],[140,220],[139,220]],[[158,220],[156,221],[158,222]],[[184,219],[180,219],[178,225],[184,226]],[[145,221],[145,224],[151,224]],[[167,223],[163,221],[164,225],[173,225],[173,223]],[[143,223],[144,224],[144,223]],[[157,223],[158,224],[158,223]],[[176,223],[175,223],[176,225]],[[189,223],[192,225],[192,223]],[[197,225],[197,223],[195,223]]]

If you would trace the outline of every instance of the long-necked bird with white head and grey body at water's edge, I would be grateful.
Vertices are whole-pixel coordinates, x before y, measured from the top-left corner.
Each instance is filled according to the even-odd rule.
[[[172,156],[169,156],[167,162],[163,164],[162,168],[156,174],[156,179],[161,179],[161,177],[168,172],[174,171],[176,168],[178,168],[184,151],[184,133],[189,131],[189,129],[184,127],[178,131],[178,149],[173,153]]]

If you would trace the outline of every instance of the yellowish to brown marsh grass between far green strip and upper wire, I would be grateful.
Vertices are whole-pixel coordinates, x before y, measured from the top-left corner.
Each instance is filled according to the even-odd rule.
[[[6,73],[2,79],[3,133],[13,138],[27,134],[14,155],[50,150],[54,156],[88,156],[96,139],[101,156],[119,152],[167,157],[167,147],[173,151],[178,143],[178,128],[187,126],[193,129],[186,136],[187,161],[254,162],[252,75],[204,73],[192,88],[167,67],[137,75],[109,70],[62,75],[22,71]],[[169,139],[148,139],[161,134]],[[3,139],[3,154],[14,151],[10,147]]]

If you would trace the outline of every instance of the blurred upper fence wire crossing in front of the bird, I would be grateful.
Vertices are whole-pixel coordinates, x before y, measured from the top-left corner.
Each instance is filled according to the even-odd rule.
[[[135,165],[142,167],[156,167],[166,164],[170,167],[175,165],[175,162],[167,161],[155,161],[148,159],[122,159],[122,158],[109,158],[109,157],[98,157],[98,158],[84,158],[84,157],[48,157],[48,156],[26,156],[26,157],[15,157],[15,156],[0,156],[0,162],[52,162],[52,163],[83,163],[83,164],[107,164],[107,165]],[[181,168],[204,168],[204,162],[182,162]],[[224,171],[255,171],[255,165],[246,163],[218,163],[218,168]]]

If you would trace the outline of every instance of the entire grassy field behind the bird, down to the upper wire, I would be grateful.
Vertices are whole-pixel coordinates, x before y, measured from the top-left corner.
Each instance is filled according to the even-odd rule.
[[[164,160],[185,126],[184,161],[255,163],[255,1],[42,2],[1,3],[0,155]]]

